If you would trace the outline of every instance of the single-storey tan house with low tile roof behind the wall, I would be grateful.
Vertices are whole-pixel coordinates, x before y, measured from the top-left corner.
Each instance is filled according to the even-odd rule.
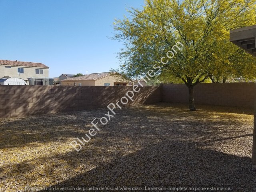
[[[61,80],[61,85],[80,85],[80,86],[131,86],[134,80],[125,78],[122,74],[110,72],[92,73],[80,77],[66,78]]]

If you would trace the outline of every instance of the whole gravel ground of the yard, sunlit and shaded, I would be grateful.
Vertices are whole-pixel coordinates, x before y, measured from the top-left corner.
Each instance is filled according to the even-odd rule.
[[[80,152],[70,142],[85,138],[90,122],[106,108],[0,119],[0,191],[54,191],[44,189],[49,186],[256,191],[250,168],[253,112],[197,108],[190,112],[186,104],[159,103],[116,110]]]

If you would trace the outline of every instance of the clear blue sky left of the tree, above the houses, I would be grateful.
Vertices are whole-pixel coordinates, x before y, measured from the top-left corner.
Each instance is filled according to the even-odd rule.
[[[50,77],[108,72],[123,47],[115,18],[144,0],[0,0],[0,59],[41,62]]]

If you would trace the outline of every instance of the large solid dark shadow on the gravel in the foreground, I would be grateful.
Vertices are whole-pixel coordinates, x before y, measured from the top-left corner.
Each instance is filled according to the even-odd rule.
[[[195,142],[166,140],[52,187],[230,187],[234,192],[253,192],[256,172],[250,163],[250,158],[203,149]]]

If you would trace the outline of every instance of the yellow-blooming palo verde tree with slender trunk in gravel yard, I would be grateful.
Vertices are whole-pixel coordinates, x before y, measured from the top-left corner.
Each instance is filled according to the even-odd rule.
[[[125,45],[118,71],[139,77],[155,64],[161,66],[158,76],[188,86],[190,110],[196,110],[197,84],[255,76],[247,71],[255,69],[255,60],[229,42],[229,30],[256,24],[255,0],[146,0],[141,10],[129,13],[130,18],[114,23],[114,39]],[[168,58],[166,52],[177,42],[184,46]]]

